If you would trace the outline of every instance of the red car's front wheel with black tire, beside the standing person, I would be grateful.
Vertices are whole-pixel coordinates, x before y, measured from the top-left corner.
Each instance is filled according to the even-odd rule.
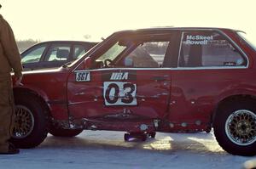
[[[47,137],[48,112],[32,95],[16,95],[15,105],[15,125],[10,142],[17,148],[34,148]]]

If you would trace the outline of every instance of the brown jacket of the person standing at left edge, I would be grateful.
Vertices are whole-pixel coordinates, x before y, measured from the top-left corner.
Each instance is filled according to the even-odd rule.
[[[22,76],[21,58],[14,32],[0,14],[0,74],[10,73],[12,68],[15,71],[15,76]]]

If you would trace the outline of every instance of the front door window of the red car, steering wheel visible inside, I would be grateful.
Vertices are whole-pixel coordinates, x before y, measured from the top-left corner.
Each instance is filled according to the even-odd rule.
[[[103,50],[99,50],[100,53],[95,57],[96,60],[93,62],[92,68],[166,67],[168,66],[166,59],[172,57],[166,52],[170,47],[173,35],[171,33],[145,35],[131,33],[131,35],[115,38],[109,41]]]

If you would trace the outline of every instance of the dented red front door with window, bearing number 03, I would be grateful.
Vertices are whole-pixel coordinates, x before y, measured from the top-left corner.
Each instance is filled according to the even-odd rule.
[[[75,119],[158,119],[170,97],[174,34],[113,37],[91,54],[90,69],[78,66],[67,83]]]

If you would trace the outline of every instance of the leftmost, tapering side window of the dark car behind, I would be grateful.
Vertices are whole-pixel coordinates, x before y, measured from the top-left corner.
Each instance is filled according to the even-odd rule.
[[[46,48],[46,44],[36,48],[32,48],[30,51],[26,52],[25,54],[22,54],[21,62],[23,64],[39,62],[42,55],[44,54],[45,48]]]

